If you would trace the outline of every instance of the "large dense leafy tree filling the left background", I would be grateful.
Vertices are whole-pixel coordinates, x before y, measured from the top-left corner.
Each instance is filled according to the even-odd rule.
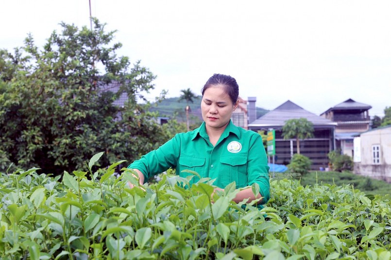
[[[14,53],[0,51],[0,170],[60,174],[101,151],[101,166],[131,162],[168,138],[144,102],[155,76],[117,55],[115,31],[96,19],[92,30],[61,26],[43,49],[29,35]]]

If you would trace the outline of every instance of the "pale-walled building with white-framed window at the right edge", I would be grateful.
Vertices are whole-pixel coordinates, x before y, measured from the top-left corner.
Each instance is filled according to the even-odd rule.
[[[391,183],[391,125],[354,138],[354,173]]]

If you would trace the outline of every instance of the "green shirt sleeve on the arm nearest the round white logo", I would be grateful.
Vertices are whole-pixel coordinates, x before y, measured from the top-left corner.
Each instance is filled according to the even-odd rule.
[[[265,204],[270,199],[269,166],[260,135],[254,135],[250,139],[247,174],[248,185],[254,183],[259,185],[260,194],[263,197],[261,204]]]

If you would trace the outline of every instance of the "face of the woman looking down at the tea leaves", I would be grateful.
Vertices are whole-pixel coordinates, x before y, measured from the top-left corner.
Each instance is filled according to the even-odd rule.
[[[222,86],[211,86],[204,91],[201,101],[202,117],[206,128],[225,129],[238,102],[232,104],[231,98]]]

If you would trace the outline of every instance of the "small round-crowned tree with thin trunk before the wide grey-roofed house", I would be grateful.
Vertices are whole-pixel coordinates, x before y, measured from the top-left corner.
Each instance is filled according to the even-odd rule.
[[[312,138],[314,126],[306,118],[289,119],[282,127],[282,136],[284,139],[296,138],[297,153],[300,154],[299,139]]]

